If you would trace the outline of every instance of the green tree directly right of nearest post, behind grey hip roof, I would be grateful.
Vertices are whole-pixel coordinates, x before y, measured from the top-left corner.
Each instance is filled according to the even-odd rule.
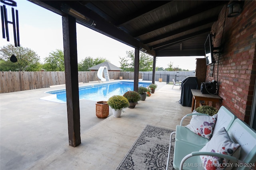
[[[97,57],[96,59],[93,59],[92,57],[85,57],[85,59],[78,63],[78,71],[88,71],[88,68],[104,62],[109,61],[102,57]]]

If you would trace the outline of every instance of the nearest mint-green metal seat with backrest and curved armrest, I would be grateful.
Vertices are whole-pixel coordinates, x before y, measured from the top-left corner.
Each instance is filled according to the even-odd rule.
[[[176,141],[174,146],[174,161],[173,167],[176,170],[182,170],[184,165],[194,165],[194,164],[202,164],[199,155],[209,155],[216,156],[219,158],[226,158],[230,161],[233,161],[232,167],[236,167],[236,170],[249,170],[254,169],[255,161],[256,161],[256,131],[250,128],[244,121],[240,119],[235,119],[232,123],[231,127],[228,129],[228,135],[230,139],[234,141],[234,143],[239,143],[241,146],[240,157],[237,159],[236,157],[229,156],[221,153],[214,152],[200,152],[198,149],[200,147],[193,145],[191,143],[185,143],[182,141]],[[175,152],[176,150],[176,152]],[[185,150],[185,152],[182,152]],[[196,151],[197,150],[197,151]],[[191,152],[191,153],[189,153]],[[180,154],[181,153],[181,154]],[[188,154],[189,153],[189,154]],[[183,157],[183,158],[182,158]],[[191,158],[192,157],[192,158]],[[189,159],[188,159],[189,158]],[[186,161],[186,163],[184,163]],[[231,163],[230,163],[231,164]],[[203,167],[184,167],[186,170],[199,170],[204,169]]]

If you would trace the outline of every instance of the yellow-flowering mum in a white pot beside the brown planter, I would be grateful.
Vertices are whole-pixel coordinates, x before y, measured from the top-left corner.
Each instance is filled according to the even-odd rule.
[[[114,95],[108,99],[108,106],[112,108],[113,117],[121,117],[123,109],[129,106],[129,102],[124,96]]]

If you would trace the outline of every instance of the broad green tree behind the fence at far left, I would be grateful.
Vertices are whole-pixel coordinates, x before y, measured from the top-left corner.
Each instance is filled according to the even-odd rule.
[[[15,55],[16,63],[10,61],[10,57]],[[38,71],[40,67],[40,57],[33,50],[25,47],[14,47],[8,44],[0,49],[0,69],[1,71]]]

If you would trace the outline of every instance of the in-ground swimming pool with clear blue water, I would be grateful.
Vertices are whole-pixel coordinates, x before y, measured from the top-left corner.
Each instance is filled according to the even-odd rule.
[[[139,86],[147,87],[150,83],[139,82]],[[123,95],[125,92],[133,90],[133,82],[112,82],[104,84],[95,84],[89,86],[79,87],[79,100],[86,99],[92,101],[108,101],[111,96]],[[52,102],[65,103],[66,102],[66,89],[48,91],[45,93],[52,94],[40,98]]]

